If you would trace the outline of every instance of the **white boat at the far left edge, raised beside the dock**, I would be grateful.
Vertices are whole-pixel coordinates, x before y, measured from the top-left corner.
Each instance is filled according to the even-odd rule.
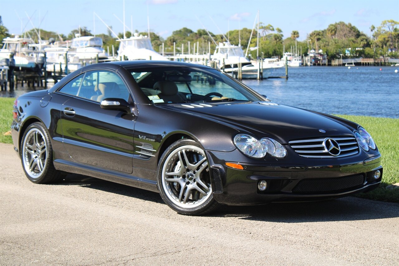
[[[10,59],[11,53],[14,55],[15,67],[24,70],[33,70],[43,66],[44,57],[29,44],[34,43],[31,38],[20,38],[16,35],[14,38],[7,37],[3,39],[3,47],[0,49],[0,60]]]

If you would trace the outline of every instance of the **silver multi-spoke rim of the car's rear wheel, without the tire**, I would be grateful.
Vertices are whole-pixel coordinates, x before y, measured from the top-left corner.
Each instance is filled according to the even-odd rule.
[[[25,172],[33,179],[39,178],[48,158],[47,140],[38,128],[30,129],[22,143],[22,162]]]

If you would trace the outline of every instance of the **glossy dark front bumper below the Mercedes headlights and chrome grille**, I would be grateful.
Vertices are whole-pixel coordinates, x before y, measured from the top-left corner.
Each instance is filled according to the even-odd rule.
[[[259,160],[242,163],[246,158],[240,156],[237,150],[236,152],[207,151],[207,157],[213,177],[213,197],[219,203],[227,205],[318,201],[346,197],[375,189],[381,183],[383,174],[379,153],[370,156],[365,154],[348,156],[344,160],[311,160],[309,161],[311,166],[277,164],[277,162],[268,164]],[[233,158],[242,161],[232,160]],[[244,169],[227,167],[225,162],[241,164]],[[373,175],[377,169],[381,175],[375,179]],[[259,191],[257,188],[259,180],[267,181],[268,187],[265,191]],[[304,183],[310,184],[308,191]]]

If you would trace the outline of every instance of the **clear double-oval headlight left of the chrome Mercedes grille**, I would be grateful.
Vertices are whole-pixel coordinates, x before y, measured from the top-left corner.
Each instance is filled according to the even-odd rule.
[[[283,158],[287,154],[285,148],[272,138],[257,140],[247,134],[238,134],[234,137],[234,144],[243,154],[253,158],[263,158],[267,153]]]

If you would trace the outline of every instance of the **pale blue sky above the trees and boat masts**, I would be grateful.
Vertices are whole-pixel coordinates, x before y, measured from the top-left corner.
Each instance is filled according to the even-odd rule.
[[[369,34],[373,24],[393,19],[399,21],[399,0],[335,0],[335,1],[258,1],[258,0],[125,0],[125,24],[139,31],[147,29],[147,7],[150,29],[166,38],[183,27],[194,31],[203,28],[220,33],[246,27],[251,29],[257,10],[260,21],[282,29],[284,38],[298,30],[303,40],[313,30],[323,30],[329,24],[350,22]],[[36,10],[36,12],[35,12]],[[37,28],[67,35],[71,30],[86,26],[94,32],[93,11],[115,32],[123,32],[123,0],[1,0],[0,15],[10,33],[21,32],[22,27],[32,29],[26,14],[32,16]],[[115,16],[115,15],[116,16]],[[198,21],[199,18],[201,23]],[[211,18],[209,18],[211,17]],[[39,20],[40,18],[40,20]],[[212,20],[217,24],[212,22]],[[95,33],[106,33],[106,26],[95,18]]]

